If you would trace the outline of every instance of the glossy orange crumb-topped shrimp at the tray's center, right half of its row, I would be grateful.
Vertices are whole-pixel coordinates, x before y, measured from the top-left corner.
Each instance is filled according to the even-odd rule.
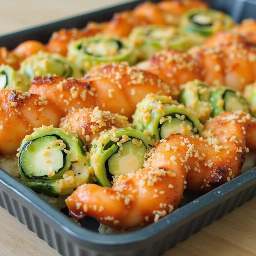
[[[148,93],[176,95],[159,77],[128,66],[126,62],[112,63],[88,74],[85,79],[96,89],[97,102],[102,110],[125,115],[131,120],[140,102]]]

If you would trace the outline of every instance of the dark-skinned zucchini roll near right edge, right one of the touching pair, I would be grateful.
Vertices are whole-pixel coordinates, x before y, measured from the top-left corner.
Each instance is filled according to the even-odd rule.
[[[238,92],[226,87],[219,87],[211,92],[210,103],[212,104],[211,116],[219,115],[223,111],[242,110],[250,112],[246,99]]]

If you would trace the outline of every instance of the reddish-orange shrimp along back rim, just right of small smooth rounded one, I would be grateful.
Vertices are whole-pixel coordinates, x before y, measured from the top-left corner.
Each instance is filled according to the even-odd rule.
[[[94,23],[93,23],[94,24]],[[67,55],[67,47],[71,40],[77,40],[82,37],[94,36],[101,31],[101,26],[90,26],[85,29],[60,29],[54,32],[49,39],[46,49],[49,52],[61,54],[62,56]]]

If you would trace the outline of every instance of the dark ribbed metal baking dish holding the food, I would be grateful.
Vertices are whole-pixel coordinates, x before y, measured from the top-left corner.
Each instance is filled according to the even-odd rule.
[[[14,48],[35,39],[46,42],[53,31],[84,27],[90,20],[101,22],[113,13],[131,9],[142,1],[115,6],[98,12],[62,20],[0,37],[0,46]],[[212,8],[222,10],[236,21],[256,18],[256,1],[209,0]],[[256,195],[256,167],[219,188],[199,196],[172,214],[144,229],[119,235],[95,232],[99,223],[85,218],[79,227],[63,212],[57,211],[36,193],[0,169],[0,205],[24,223],[62,255],[69,256],[154,256],[162,255],[215,219],[242,205]]]

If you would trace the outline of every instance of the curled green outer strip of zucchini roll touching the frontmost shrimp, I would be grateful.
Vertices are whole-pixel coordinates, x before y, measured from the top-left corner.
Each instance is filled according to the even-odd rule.
[[[143,146],[143,148],[145,148],[146,151],[142,157],[143,160],[146,160],[146,153],[153,147],[153,141],[141,131],[134,129],[114,128],[100,135],[92,142],[93,146],[90,149],[90,167],[92,168],[94,177],[97,179],[97,183],[100,186],[112,187],[110,181],[111,174],[108,170],[108,159],[110,159],[114,154],[122,154],[122,144],[130,141],[134,142],[134,139],[136,140],[135,142],[140,143],[138,145],[140,158],[141,147]],[[135,156],[136,153],[137,152],[134,152]],[[121,170],[121,168],[124,169],[124,171]],[[129,164],[127,164],[126,161],[122,161],[121,168],[120,175],[131,171],[129,169]],[[139,168],[143,168],[143,165]],[[133,169],[133,171],[137,171],[137,169]],[[118,171],[116,172],[116,175],[119,175]]]

